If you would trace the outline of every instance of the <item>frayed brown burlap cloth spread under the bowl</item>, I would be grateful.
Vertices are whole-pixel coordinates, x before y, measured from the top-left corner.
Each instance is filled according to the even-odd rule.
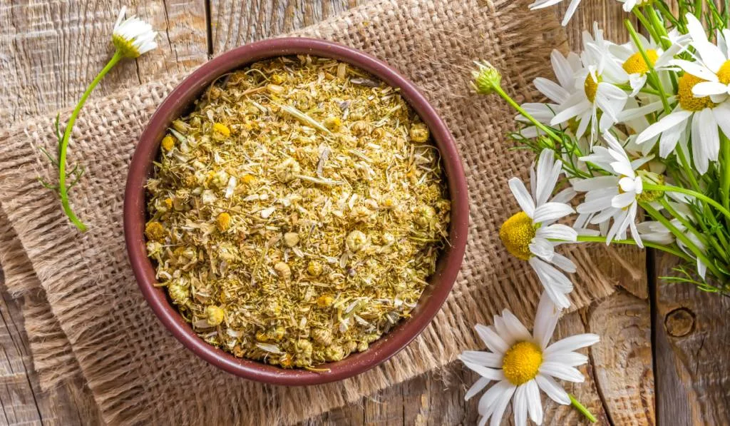
[[[55,194],[37,180],[39,173],[53,176],[38,149],[54,149],[53,117],[31,119],[0,135],[0,262],[9,291],[25,297],[25,325],[42,386],[85,379],[110,424],[291,423],[480,347],[472,326],[504,307],[531,320],[541,287],[525,262],[502,249],[498,236],[499,225],[517,209],[507,179],[526,176],[531,154],[510,150],[504,137],[512,128],[509,107],[470,94],[468,86],[472,61],[480,58],[502,70],[504,86],[520,101],[532,99],[534,77],[550,75],[550,49],[564,47],[564,34],[553,12],[529,12],[528,3],[374,1],[295,33],[365,50],[410,77],[456,137],[469,182],[469,244],[444,308],[393,360],[339,383],[273,387],[223,373],[178,343],[137,289],[121,227],[126,171],[145,123],[183,75],[84,108],[69,158],[86,168],[72,191],[74,210],[90,228],[85,234],[69,225]],[[602,253],[572,250],[577,264],[587,265],[574,276],[575,307],[613,291],[612,275],[618,274],[593,266]]]

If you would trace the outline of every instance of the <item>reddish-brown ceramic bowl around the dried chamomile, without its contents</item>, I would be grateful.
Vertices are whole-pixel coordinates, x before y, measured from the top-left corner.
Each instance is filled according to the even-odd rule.
[[[164,289],[155,286],[157,283],[155,268],[147,258],[145,248],[144,186],[153,171],[153,160],[158,156],[160,142],[170,123],[188,113],[193,107],[193,101],[220,75],[262,59],[297,54],[344,61],[370,72],[388,85],[400,88],[404,99],[429,126],[431,135],[442,153],[452,203],[450,247],[440,256],[437,271],[430,278],[429,286],[412,311],[412,316],[399,323],[383,338],[372,343],[368,350],[351,354],[342,361],[328,363],[326,368],[329,368],[329,371],[325,373],[287,370],[263,362],[240,359],[202,341],[177,313]],[[309,385],[346,379],[373,368],[403,349],[431,322],[453,287],[464,257],[468,224],[469,205],[464,169],[461,167],[461,159],[453,137],[434,108],[413,83],[383,61],[359,50],[318,39],[281,38],[255,42],[224,53],[196,69],[167,96],[147,124],[147,129],[142,133],[132,157],[124,194],[124,234],[129,262],[139,283],[139,289],[162,324],[177,340],[212,365],[228,373],[269,384]]]

